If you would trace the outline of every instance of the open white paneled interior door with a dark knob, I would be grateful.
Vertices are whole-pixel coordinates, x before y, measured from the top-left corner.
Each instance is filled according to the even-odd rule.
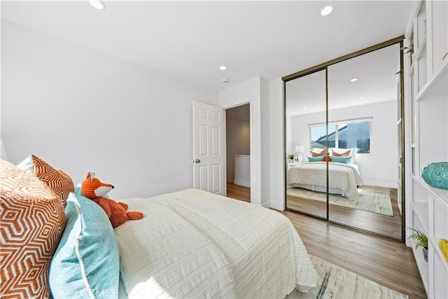
[[[224,109],[193,102],[193,186],[225,195]]]

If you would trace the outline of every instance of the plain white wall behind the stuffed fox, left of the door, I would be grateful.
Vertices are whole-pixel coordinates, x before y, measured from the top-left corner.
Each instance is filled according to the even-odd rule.
[[[1,23],[1,139],[10,162],[34,153],[75,183],[96,172],[116,186],[116,199],[191,188],[193,100],[216,105],[218,93]]]

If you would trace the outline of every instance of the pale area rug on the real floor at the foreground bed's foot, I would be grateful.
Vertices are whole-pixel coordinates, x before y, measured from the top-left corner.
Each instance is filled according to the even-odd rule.
[[[407,295],[393,291],[386,286],[381,286],[370,279],[329,263],[316,256],[309,255],[311,261],[321,277],[321,281],[315,288],[302,293],[294,290],[286,299],[308,298],[408,298]]]

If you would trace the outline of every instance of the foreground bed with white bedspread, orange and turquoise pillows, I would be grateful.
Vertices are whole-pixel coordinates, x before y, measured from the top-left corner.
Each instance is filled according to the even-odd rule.
[[[49,167],[29,174],[0,160],[1,296],[284,298],[318,284],[277,211],[187,189],[120,200],[144,218],[114,230],[63,172],[43,183]]]

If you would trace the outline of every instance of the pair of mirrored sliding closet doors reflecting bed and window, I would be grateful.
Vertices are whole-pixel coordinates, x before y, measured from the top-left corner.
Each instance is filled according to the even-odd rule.
[[[399,69],[395,43],[286,81],[286,158],[302,157],[286,163],[288,209],[402,238]]]

